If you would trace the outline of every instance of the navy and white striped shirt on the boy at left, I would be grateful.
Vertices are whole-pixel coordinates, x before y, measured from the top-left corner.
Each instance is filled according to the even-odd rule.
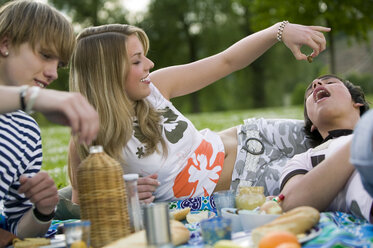
[[[18,221],[32,207],[17,192],[19,178],[38,173],[42,157],[40,129],[34,119],[22,111],[0,115],[0,201],[12,233],[16,234]]]

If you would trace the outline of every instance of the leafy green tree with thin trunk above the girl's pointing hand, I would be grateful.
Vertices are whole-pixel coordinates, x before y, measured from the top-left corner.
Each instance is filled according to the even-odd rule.
[[[254,22],[261,29],[269,23],[289,20],[308,25],[325,25],[332,30],[327,34],[330,51],[330,68],[335,73],[335,37],[344,33],[358,41],[368,41],[373,27],[373,1],[371,0],[254,0]]]

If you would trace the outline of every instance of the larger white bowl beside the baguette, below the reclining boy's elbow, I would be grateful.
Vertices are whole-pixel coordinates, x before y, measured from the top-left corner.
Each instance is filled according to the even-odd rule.
[[[258,211],[239,210],[238,217],[241,221],[241,226],[244,231],[251,231],[252,229],[267,224],[277,217],[279,214],[262,214]]]

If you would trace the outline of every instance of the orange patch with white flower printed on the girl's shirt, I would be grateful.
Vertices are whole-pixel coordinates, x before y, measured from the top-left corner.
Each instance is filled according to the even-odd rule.
[[[208,196],[219,180],[223,163],[224,152],[213,157],[211,143],[202,140],[188,158],[185,168],[176,176],[172,187],[175,197]]]

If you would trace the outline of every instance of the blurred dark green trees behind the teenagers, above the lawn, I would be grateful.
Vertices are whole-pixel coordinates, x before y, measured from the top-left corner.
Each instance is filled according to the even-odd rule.
[[[291,51],[279,43],[247,68],[198,93],[173,99],[176,107],[185,113],[302,104],[304,87],[315,77],[335,71],[335,43],[368,41],[373,27],[372,0],[150,0],[143,18],[135,19],[120,0],[48,2],[71,19],[77,32],[106,23],[142,27],[151,42],[148,56],[155,62],[154,69],[216,54],[235,41],[282,20],[332,28],[332,32],[326,34],[326,51],[312,64],[297,61]],[[302,51],[308,54],[311,49],[302,48]],[[371,58],[373,61],[373,55]],[[365,92],[373,92],[372,73],[338,73],[361,85]],[[68,76],[68,69],[59,70],[59,78],[49,88],[68,90]]]

